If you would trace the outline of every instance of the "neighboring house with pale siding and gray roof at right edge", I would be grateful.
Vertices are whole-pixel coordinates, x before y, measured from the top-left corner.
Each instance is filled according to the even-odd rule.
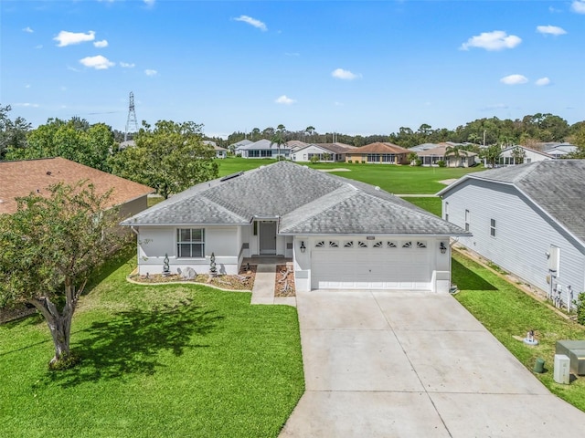
[[[585,161],[469,173],[439,195],[443,218],[473,234],[461,244],[565,307],[585,290]]]

